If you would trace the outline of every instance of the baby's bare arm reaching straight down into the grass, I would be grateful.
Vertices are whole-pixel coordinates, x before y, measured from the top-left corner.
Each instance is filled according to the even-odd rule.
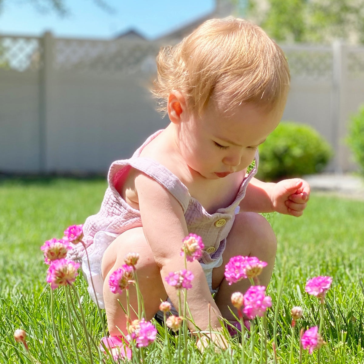
[[[161,276],[167,295],[178,308],[177,291],[167,284],[165,277],[170,272],[185,268],[180,255],[182,239],[188,235],[183,210],[179,202],[158,182],[139,174],[135,178],[141,212],[143,232],[153,252],[155,262],[161,269]],[[187,269],[194,275],[192,288],[187,290],[187,304],[195,324],[202,330],[209,326],[208,304],[211,305],[211,329],[221,328],[221,316],[207,285],[205,274],[198,261],[187,262]],[[196,328],[189,323],[191,331]]]

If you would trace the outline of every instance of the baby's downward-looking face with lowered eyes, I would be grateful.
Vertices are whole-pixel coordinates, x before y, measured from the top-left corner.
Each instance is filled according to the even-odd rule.
[[[242,104],[224,114],[211,102],[202,116],[191,116],[182,123],[181,153],[189,167],[207,179],[241,171],[277,127],[283,110],[284,106],[267,111],[254,104]]]

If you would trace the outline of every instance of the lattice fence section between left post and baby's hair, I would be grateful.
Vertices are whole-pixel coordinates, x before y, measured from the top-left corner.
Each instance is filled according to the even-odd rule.
[[[148,41],[57,39],[54,67],[92,73],[154,72],[159,47]]]

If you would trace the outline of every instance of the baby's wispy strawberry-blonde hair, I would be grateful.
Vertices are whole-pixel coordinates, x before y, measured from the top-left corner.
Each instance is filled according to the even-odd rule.
[[[201,115],[210,98],[220,111],[253,102],[275,106],[286,100],[289,67],[281,48],[257,25],[228,17],[211,19],[157,56],[153,94],[167,111],[172,90]]]

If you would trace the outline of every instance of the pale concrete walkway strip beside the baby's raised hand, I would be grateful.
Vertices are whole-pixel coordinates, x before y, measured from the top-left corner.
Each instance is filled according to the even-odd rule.
[[[313,174],[304,179],[312,191],[330,192],[364,199],[364,177],[353,174]]]

